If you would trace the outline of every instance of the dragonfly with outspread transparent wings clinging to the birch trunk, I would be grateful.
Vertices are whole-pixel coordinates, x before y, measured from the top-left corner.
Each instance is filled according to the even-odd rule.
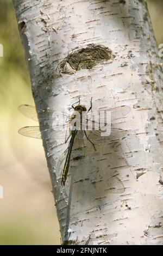
[[[20,105],[19,111],[26,117],[38,121],[37,112],[34,106]],[[65,185],[68,170],[70,168],[71,153],[73,144],[76,139],[86,139],[91,143],[93,149],[96,151],[95,144],[93,143],[94,137],[99,137],[108,131],[123,131],[122,129],[114,128],[113,125],[117,119],[125,117],[130,112],[129,106],[118,106],[113,108],[99,109],[98,111],[92,112],[92,98],[90,107],[87,109],[85,105],[80,104],[80,97],[76,103],[71,106],[72,113],[65,114],[65,112],[49,111],[38,109],[40,125],[39,126],[25,126],[18,130],[23,136],[33,137],[41,139],[47,135],[48,131],[54,131],[54,139],[65,139],[65,143],[68,142],[68,147],[65,150],[66,160],[62,170],[61,184]],[[102,113],[104,115],[101,118]],[[109,121],[106,120],[105,114],[109,113]],[[60,117],[64,116],[62,122]],[[102,119],[102,126],[99,121]],[[50,124],[49,124],[50,123]],[[66,134],[64,133],[66,131]],[[93,135],[93,136],[92,136]],[[109,133],[110,135],[110,133]]]

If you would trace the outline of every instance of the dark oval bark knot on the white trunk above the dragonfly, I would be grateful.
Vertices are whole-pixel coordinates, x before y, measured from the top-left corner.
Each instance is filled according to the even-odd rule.
[[[111,59],[112,52],[108,47],[88,45],[86,48],[73,50],[62,62],[58,69],[61,73],[73,74],[81,69],[92,69],[98,63]]]

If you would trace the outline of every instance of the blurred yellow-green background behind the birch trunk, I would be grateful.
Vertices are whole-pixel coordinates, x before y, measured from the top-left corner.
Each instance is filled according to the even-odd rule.
[[[163,43],[163,1],[148,0],[154,33]],[[26,125],[18,105],[34,105],[11,0],[0,0],[0,245],[59,245],[60,233],[42,142],[18,135]]]

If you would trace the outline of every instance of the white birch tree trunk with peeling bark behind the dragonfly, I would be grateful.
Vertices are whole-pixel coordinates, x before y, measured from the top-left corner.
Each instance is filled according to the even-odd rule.
[[[57,166],[68,144],[47,131],[62,241],[162,244],[162,69],[146,1],[13,2],[37,109],[64,111],[79,96],[86,107],[93,97],[93,111],[131,107],[118,124],[125,131],[98,140],[96,151],[74,144],[65,186]],[[114,176],[123,193],[111,193]]]

